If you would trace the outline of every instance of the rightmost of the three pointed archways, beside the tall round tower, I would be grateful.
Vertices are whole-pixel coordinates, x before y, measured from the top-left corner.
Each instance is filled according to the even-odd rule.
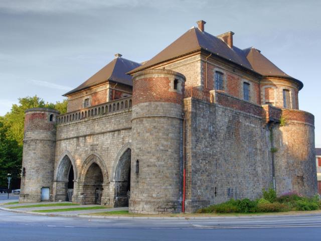
[[[128,206],[130,197],[130,159],[131,150],[128,148],[119,158],[115,171],[115,207]]]

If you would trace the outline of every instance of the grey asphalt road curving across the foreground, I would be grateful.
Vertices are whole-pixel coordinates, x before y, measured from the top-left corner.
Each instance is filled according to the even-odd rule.
[[[202,220],[87,219],[0,210],[0,240],[320,240],[321,215]]]

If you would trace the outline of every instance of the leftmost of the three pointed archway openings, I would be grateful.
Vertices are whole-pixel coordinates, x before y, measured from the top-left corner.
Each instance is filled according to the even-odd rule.
[[[58,166],[55,180],[55,200],[72,201],[75,170],[71,159],[65,155]]]

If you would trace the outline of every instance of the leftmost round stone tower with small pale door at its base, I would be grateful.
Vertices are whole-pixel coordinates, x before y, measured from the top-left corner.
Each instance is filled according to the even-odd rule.
[[[54,176],[56,116],[59,111],[25,111],[25,136],[20,202],[50,201]]]

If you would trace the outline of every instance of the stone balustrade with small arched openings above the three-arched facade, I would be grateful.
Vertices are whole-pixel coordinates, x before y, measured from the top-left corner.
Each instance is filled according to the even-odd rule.
[[[132,105],[131,96],[109,101],[103,104],[90,106],[73,112],[60,114],[57,116],[57,124],[64,124],[79,121],[80,119],[88,118],[101,114],[113,113],[130,109]]]

